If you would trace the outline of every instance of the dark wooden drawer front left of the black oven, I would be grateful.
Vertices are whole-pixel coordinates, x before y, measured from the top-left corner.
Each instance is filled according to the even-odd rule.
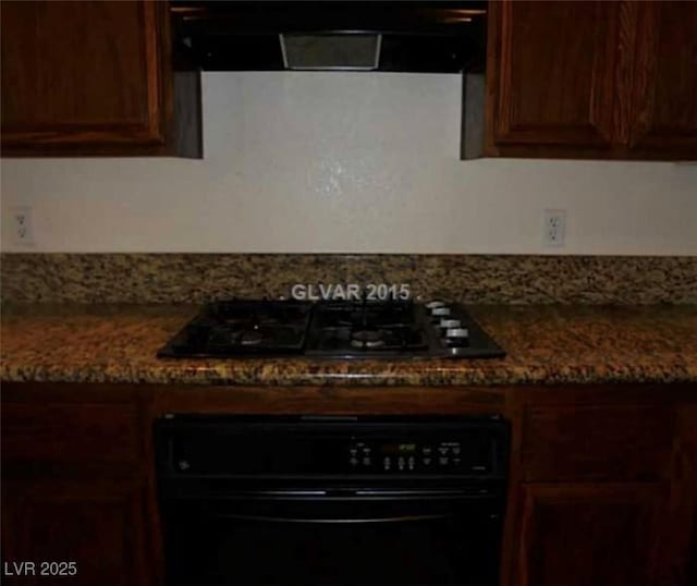
[[[123,403],[5,403],[2,457],[130,463],[138,459],[138,416]]]

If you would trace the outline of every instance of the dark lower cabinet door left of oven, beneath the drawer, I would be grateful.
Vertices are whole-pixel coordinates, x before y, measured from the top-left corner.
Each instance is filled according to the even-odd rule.
[[[3,478],[3,584],[154,584],[143,495],[132,480]]]

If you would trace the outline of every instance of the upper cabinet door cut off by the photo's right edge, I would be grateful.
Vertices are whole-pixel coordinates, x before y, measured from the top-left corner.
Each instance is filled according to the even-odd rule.
[[[638,2],[631,147],[697,158],[697,2]]]

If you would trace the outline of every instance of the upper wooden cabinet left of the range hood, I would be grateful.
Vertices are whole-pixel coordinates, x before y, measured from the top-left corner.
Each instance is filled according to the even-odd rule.
[[[200,156],[199,74],[172,71],[167,2],[8,2],[1,24],[4,156]]]

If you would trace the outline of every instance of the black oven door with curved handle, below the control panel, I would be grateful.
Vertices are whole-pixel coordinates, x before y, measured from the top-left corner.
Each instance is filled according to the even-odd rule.
[[[494,585],[501,502],[303,490],[163,502],[168,584]]]

